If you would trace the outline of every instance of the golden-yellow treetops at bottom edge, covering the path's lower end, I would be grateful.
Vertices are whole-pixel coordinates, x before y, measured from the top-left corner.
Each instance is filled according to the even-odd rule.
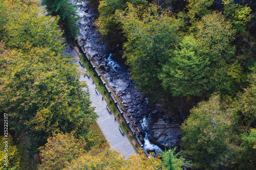
[[[160,159],[147,158],[142,154],[131,155],[129,159],[124,159],[120,153],[108,147],[93,148],[89,153],[82,155],[69,164],[68,169],[158,169],[161,167]],[[165,168],[162,168],[165,169]]]

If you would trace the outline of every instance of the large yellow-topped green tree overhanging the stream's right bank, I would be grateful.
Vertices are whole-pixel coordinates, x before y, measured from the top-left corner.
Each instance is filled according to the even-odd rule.
[[[123,57],[127,58],[131,78],[142,91],[156,95],[161,89],[158,74],[177,41],[178,21],[156,5],[145,9],[129,4],[127,13],[119,17],[127,38]]]

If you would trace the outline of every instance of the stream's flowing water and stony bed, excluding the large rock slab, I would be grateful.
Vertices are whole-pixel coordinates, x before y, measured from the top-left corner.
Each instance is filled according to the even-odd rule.
[[[93,10],[94,8],[89,5],[88,0],[79,2],[71,0],[71,2],[77,4],[77,12],[80,16],[80,20],[77,22],[77,26],[80,27],[77,39],[81,42],[82,47],[87,53],[91,55],[96,65],[104,66],[105,70],[101,70],[101,74],[104,75],[106,81],[120,100],[122,108],[125,110],[126,116],[134,130],[146,132],[144,137],[145,148],[160,153],[162,150],[157,145],[152,144],[147,137],[150,136],[147,134],[151,134],[148,128],[150,116],[148,116],[148,119],[145,116],[153,112],[152,104],[149,104],[147,98],[135,87],[135,83],[130,79],[128,69],[124,63],[119,62],[115,54],[110,53],[110,51],[115,51],[115,53],[120,54],[120,49],[110,50],[112,47],[100,41],[100,35],[94,26],[97,14]],[[110,69],[106,71],[108,67]]]

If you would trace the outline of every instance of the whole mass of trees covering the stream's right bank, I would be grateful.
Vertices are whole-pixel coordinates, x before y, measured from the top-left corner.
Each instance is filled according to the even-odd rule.
[[[99,1],[98,31],[106,41],[118,34],[109,43],[122,43],[131,78],[152,102],[164,101],[166,110],[176,105],[176,114],[190,110],[182,147],[193,166],[254,169],[255,2],[122,1],[103,8],[111,2]]]

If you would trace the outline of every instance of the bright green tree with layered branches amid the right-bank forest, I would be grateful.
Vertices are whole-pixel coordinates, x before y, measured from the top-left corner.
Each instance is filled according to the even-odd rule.
[[[174,56],[163,65],[159,78],[162,85],[174,96],[200,96],[209,89],[209,60],[198,53],[198,45],[192,36],[185,36],[176,48]]]

